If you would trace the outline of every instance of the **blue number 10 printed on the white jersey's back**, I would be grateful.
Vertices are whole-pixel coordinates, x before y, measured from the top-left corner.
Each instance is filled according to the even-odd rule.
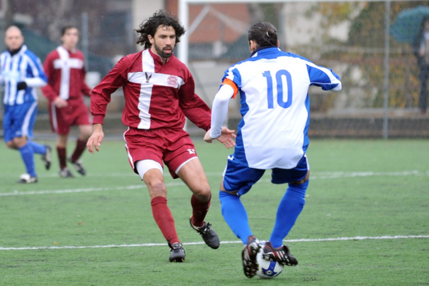
[[[265,71],[262,74],[267,80],[267,99],[268,108],[274,108],[274,95],[273,95],[273,80],[270,71]],[[283,77],[286,78],[287,84],[287,100],[283,99]],[[286,69],[280,69],[275,73],[275,81],[277,83],[277,103],[280,107],[288,108],[292,104],[292,77]]]

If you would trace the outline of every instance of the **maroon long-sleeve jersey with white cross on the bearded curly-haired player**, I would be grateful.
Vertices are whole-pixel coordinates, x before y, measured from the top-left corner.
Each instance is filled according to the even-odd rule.
[[[123,57],[91,93],[93,123],[103,123],[111,94],[123,87],[122,122],[138,129],[183,128],[185,116],[210,129],[210,108],[195,94],[187,67],[174,55],[166,63],[150,49]]]

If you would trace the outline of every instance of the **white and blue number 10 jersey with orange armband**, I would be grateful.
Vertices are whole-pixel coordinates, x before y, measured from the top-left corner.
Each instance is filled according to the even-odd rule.
[[[229,92],[227,101],[233,90],[238,92],[243,117],[238,126],[234,159],[255,169],[295,168],[308,147],[308,87],[341,90],[341,81],[331,69],[277,47],[260,48],[252,57],[225,71],[213,102],[212,138],[221,133],[224,118],[216,117],[226,114],[220,110],[224,106],[220,101],[226,85],[233,87],[225,89]]]

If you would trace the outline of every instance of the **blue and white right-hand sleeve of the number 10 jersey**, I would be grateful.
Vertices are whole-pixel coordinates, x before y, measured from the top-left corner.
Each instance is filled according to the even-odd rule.
[[[310,85],[322,87],[323,90],[341,90],[340,77],[323,66],[316,66],[314,63],[307,63]]]

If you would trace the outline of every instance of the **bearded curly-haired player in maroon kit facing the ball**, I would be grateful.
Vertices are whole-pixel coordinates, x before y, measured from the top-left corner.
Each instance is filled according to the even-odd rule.
[[[99,151],[103,141],[103,119],[110,95],[123,87],[125,108],[122,122],[131,168],[149,189],[152,214],[170,247],[170,262],[183,262],[184,249],[167,206],[163,163],[173,178],[181,178],[190,188],[190,225],[205,243],[219,247],[219,238],[204,221],[211,190],[189,134],[183,130],[185,116],[204,130],[210,129],[210,108],[194,92],[195,84],[187,67],[173,49],[184,34],[177,18],[162,10],[144,21],[139,29],[145,50],[123,57],[91,93],[94,132],[88,139],[90,153]],[[223,127],[218,138],[227,148],[235,146],[234,131]]]

